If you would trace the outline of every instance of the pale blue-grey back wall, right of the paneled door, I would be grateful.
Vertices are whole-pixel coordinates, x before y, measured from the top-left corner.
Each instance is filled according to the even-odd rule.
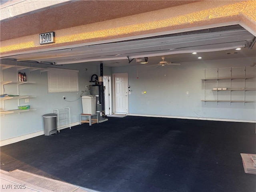
[[[131,94],[128,95],[130,114],[256,120],[255,102],[230,105],[230,102],[218,102],[217,104],[201,101],[204,100],[204,80],[201,80],[204,78],[204,68],[249,66],[253,62],[255,58],[184,62],[181,66],[160,66],[158,68],[141,64],[138,67],[112,68],[112,73],[128,72],[128,84],[131,87]],[[255,76],[255,69],[255,67],[251,68],[248,73]],[[230,82],[230,80],[227,81]],[[255,78],[247,81],[250,81],[250,86],[255,88]],[[216,80],[210,81],[210,84],[212,88],[217,86]],[[141,94],[144,90],[147,93]],[[187,91],[189,94],[186,94]],[[255,101],[255,92],[246,91],[246,99]],[[210,90],[206,94],[206,99],[216,98],[216,92]],[[224,94],[223,97],[226,100],[230,98],[229,91],[218,92],[218,94]],[[239,100],[244,99],[244,91],[233,91],[232,95],[233,98],[238,95],[236,97]]]

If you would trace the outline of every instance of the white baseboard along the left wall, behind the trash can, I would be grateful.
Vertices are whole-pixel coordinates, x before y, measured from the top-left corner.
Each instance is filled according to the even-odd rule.
[[[79,122],[71,123],[71,127],[79,125],[79,124],[80,124]],[[60,127],[60,130],[66,129],[66,128],[69,128],[69,126],[68,125],[62,126],[62,127]],[[58,128],[57,128],[57,131],[58,131]],[[2,140],[2,141],[0,141],[0,146],[5,146],[5,145],[8,145],[8,144],[16,143],[16,142],[23,141],[23,140],[26,140],[26,139],[30,139],[30,138],[33,138],[33,137],[37,137],[37,136],[40,136],[40,135],[44,135],[44,130],[34,132],[34,133],[30,133],[30,134],[26,134],[26,135],[22,135],[22,136],[18,136],[18,137],[14,137],[14,138],[10,138],[10,139]]]

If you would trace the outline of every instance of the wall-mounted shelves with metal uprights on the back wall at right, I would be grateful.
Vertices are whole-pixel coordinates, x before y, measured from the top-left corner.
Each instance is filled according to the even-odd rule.
[[[206,71],[207,70],[212,70],[215,73],[214,78],[208,78],[206,75]],[[222,74],[222,76],[220,76],[220,70],[223,70],[224,72],[222,72],[224,74]],[[234,70],[236,71],[236,75],[233,76],[234,74]],[[242,103],[250,103],[250,102],[255,102],[255,100],[246,100],[246,91],[256,91],[256,82],[255,80],[250,82],[251,85],[253,85],[253,87],[248,87],[247,84],[247,80],[248,79],[254,79],[256,78],[255,75],[248,75],[248,70],[251,70],[251,72],[253,74],[255,74],[255,67],[250,67],[250,66],[244,66],[244,67],[229,67],[229,68],[210,68],[210,69],[204,69],[204,78],[202,80],[204,80],[204,100],[202,100],[203,102],[242,102]],[[223,81],[222,81],[223,80]],[[226,80],[226,82],[224,82]],[[230,82],[227,82],[227,80],[230,80]],[[236,82],[234,82],[234,80],[238,80]],[[216,100],[211,100],[211,99],[206,99],[207,94],[207,88],[206,88],[206,84],[208,82],[215,82],[216,86],[212,87],[210,90],[212,92],[216,92]],[[228,86],[220,86],[221,83],[224,83]],[[241,87],[238,87],[239,85],[242,85]],[[222,100],[219,99],[219,92],[230,92],[230,99],[229,100]],[[232,98],[232,92],[236,91],[238,93],[240,92],[244,92],[243,93],[243,100],[233,100]],[[241,94],[238,94],[239,96],[241,96]],[[255,94],[254,94],[255,95]]]

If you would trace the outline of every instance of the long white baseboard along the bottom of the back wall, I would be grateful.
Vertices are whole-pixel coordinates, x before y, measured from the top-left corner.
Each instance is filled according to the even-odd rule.
[[[237,119],[219,119],[219,118],[202,118],[202,117],[182,117],[182,116],[148,115],[148,114],[127,114],[127,115],[129,115],[129,116],[142,116],[142,117],[174,118],[174,119],[194,119],[194,120],[209,120],[209,121],[227,121],[227,122],[256,123],[256,120],[237,120]]]

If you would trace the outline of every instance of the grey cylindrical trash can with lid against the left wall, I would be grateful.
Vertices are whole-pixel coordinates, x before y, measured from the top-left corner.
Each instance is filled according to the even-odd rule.
[[[44,114],[44,135],[49,136],[57,133],[57,114]]]

